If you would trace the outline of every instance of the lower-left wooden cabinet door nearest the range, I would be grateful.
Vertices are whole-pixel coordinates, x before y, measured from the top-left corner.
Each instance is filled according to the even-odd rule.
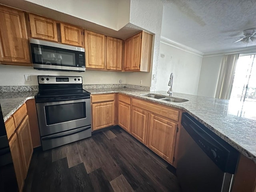
[[[20,126],[17,129],[17,137],[20,146],[21,156],[25,163],[25,176],[26,178],[28,168],[30,165],[30,160],[33,154],[32,140],[30,135],[30,128],[28,122],[28,115],[21,122]]]

